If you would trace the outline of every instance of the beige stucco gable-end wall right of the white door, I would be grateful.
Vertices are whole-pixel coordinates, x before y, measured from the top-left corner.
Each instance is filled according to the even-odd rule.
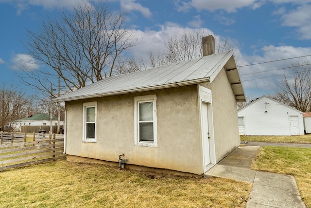
[[[212,91],[216,162],[240,145],[236,99],[225,69],[211,83],[202,86]]]

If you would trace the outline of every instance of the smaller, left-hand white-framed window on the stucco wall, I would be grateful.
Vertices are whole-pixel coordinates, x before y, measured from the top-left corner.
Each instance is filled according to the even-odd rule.
[[[84,142],[96,142],[96,102],[83,104],[83,138]]]

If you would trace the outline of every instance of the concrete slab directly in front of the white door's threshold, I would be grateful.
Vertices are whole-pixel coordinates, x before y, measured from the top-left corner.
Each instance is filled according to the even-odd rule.
[[[244,181],[253,183],[255,179],[256,170],[249,170],[239,167],[215,165],[213,168],[208,170],[204,176],[215,176],[222,178],[230,178],[238,181]]]

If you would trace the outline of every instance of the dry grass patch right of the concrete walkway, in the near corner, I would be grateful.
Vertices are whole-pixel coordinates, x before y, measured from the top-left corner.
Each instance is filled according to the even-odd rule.
[[[303,202],[311,208],[311,148],[261,147],[252,169],[294,175]]]

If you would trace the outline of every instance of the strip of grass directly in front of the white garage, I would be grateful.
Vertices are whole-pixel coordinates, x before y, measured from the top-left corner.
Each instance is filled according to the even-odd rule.
[[[297,136],[240,136],[241,141],[249,142],[283,142],[283,143],[311,143],[311,134]]]

